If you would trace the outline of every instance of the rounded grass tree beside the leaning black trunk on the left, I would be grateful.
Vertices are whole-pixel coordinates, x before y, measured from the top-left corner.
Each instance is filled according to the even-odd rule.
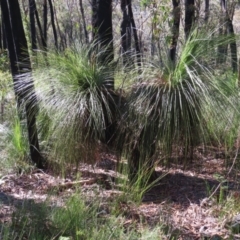
[[[107,87],[113,71],[94,48],[49,52],[47,63],[44,53],[37,56],[33,75],[40,133],[59,162],[94,159],[99,143],[110,144],[113,138],[119,112],[118,95]]]

